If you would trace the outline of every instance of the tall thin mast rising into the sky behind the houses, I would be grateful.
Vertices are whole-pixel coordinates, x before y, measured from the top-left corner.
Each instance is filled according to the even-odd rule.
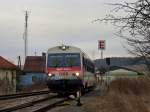
[[[25,11],[25,29],[24,29],[24,58],[26,59],[28,55],[28,17],[29,17],[29,12]]]

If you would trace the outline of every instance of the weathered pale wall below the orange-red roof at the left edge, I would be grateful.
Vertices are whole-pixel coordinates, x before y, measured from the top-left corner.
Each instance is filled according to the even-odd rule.
[[[0,69],[0,94],[16,92],[16,70]]]

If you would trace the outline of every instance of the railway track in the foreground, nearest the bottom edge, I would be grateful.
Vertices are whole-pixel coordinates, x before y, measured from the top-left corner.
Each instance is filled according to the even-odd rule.
[[[39,100],[19,104],[13,107],[0,109],[0,112],[45,112],[68,100],[70,99],[58,98],[57,95],[53,95]]]

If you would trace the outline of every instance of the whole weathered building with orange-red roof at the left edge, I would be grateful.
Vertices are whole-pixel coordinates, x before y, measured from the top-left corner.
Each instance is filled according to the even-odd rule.
[[[18,67],[0,56],[0,95],[16,91]]]

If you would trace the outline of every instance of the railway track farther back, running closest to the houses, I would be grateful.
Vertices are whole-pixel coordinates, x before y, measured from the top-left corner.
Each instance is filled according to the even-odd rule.
[[[48,94],[48,93],[49,93],[49,91],[38,91],[38,92],[30,92],[30,93],[1,95],[1,96],[0,96],[0,100],[7,100],[7,99],[13,99],[13,98],[21,98],[21,97],[42,95],[42,94]]]

